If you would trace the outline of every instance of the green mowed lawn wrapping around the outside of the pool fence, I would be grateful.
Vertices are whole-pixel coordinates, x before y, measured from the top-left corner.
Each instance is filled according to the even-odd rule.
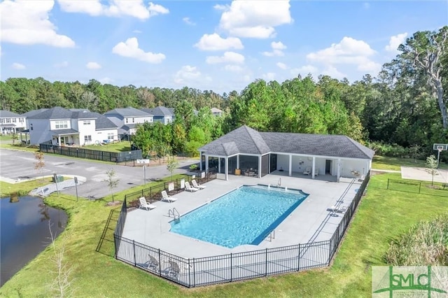
[[[391,239],[448,208],[444,197],[384,190],[388,178],[399,180],[400,174],[372,176],[331,267],[195,289],[114,260],[108,255],[113,253],[113,243],[105,241],[102,253],[95,251],[109,212],[119,206],[107,207],[106,201],[77,202],[66,195],[45,201],[69,213],[69,225],[56,244],[66,244],[64,257],[73,269],[74,297],[370,297],[371,266],[385,264]],[[52,249],[47,248],[3,285],[0,296],[56,295],[48,290],[55,276],[50,273],[54,270],[51,256]]]

